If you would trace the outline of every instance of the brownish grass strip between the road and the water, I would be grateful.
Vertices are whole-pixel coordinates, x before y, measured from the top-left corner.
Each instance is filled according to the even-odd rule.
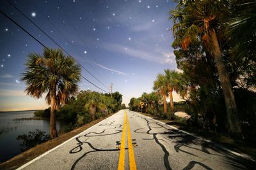
[[[100,121],[104,120],[105,118],[111,117],[114,114],[115,113],[111,113],[107,117],[99,118],[97,120],[94,120],[93,122],[90,122],[89,124],[86,124],[86,125],[83,125],[82,127],[74,129],[73,131],[67,132],[65,134],[61,134],[60,136],[58,136],[58,138],[47,141],[45,143],[41,143],[40,145],[36,145],[35,147],[30,148],[29,150],[26,150],[25,152],[22,152],[19,155],[16,155],[12,159],[6,160],[5,162],[1,163],[0,169],[17,169],[18,167],[22,166],[23,164],[26,164],[27,162],[29,162],[30,160],[35,159],[39,155],[42,155],[43,153],[47,152],[48,150],[51,150],[52,148],[54,148],[55,146],[60,145],[61,143],[72,138],[73,136],[76,136],[77,134],[85,131],[86,129],[99,123]]]

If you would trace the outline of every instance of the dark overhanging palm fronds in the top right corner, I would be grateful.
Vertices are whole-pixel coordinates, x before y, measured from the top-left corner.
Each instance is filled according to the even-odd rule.
[[[244,0],[233,1],[233,3],[234,10],[230,14],[231,19],[228,22],[227,34],[232,36],[230,41],[236,43],[234,50],[239,58],[250,57],[251,55],[255,57],[256,2]]]

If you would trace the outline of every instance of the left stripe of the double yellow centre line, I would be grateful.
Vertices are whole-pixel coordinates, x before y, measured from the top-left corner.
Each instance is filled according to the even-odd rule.
[[[124,113],[124,125],[119,153],[118,170],[125,169],[125,125],[126,125],[126,112]]]

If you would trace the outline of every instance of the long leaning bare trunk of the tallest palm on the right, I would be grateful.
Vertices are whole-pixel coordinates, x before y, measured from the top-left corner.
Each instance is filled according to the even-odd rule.
[[[223,95],[225,98],[226,110],[227,110],[227,122],[228,132],[230,136],[234,138],[241,138],[241,125],[239,123],[236,100],[234,92],[232,91],[232,85],[228,76],[227,69],[221,57],[220,45],[214,29],[210,31],[210,43],[212,45],[212,55],[218,69],[219,78],[221,81],[221,87],[223,89]]]

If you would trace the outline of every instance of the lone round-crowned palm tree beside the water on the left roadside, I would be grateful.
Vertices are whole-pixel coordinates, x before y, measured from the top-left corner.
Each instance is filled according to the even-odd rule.
[[[44,48],[42,55],[29,53],[26,71],[22,74],[27,95],[40,98],[47,92],[45,101],[51,104],[50,134],[58,136],[56,131],[56,115],[61,104],[76,94],[80,81],[80,67],[72,57],[67,57],[60,49]]]

